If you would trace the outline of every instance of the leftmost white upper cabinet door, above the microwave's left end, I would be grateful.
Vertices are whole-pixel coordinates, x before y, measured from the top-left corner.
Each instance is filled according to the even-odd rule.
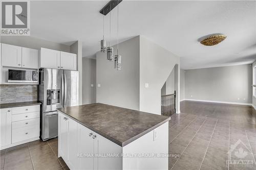
[[[22,47],[2,43],[2,66],[22,67]]]

